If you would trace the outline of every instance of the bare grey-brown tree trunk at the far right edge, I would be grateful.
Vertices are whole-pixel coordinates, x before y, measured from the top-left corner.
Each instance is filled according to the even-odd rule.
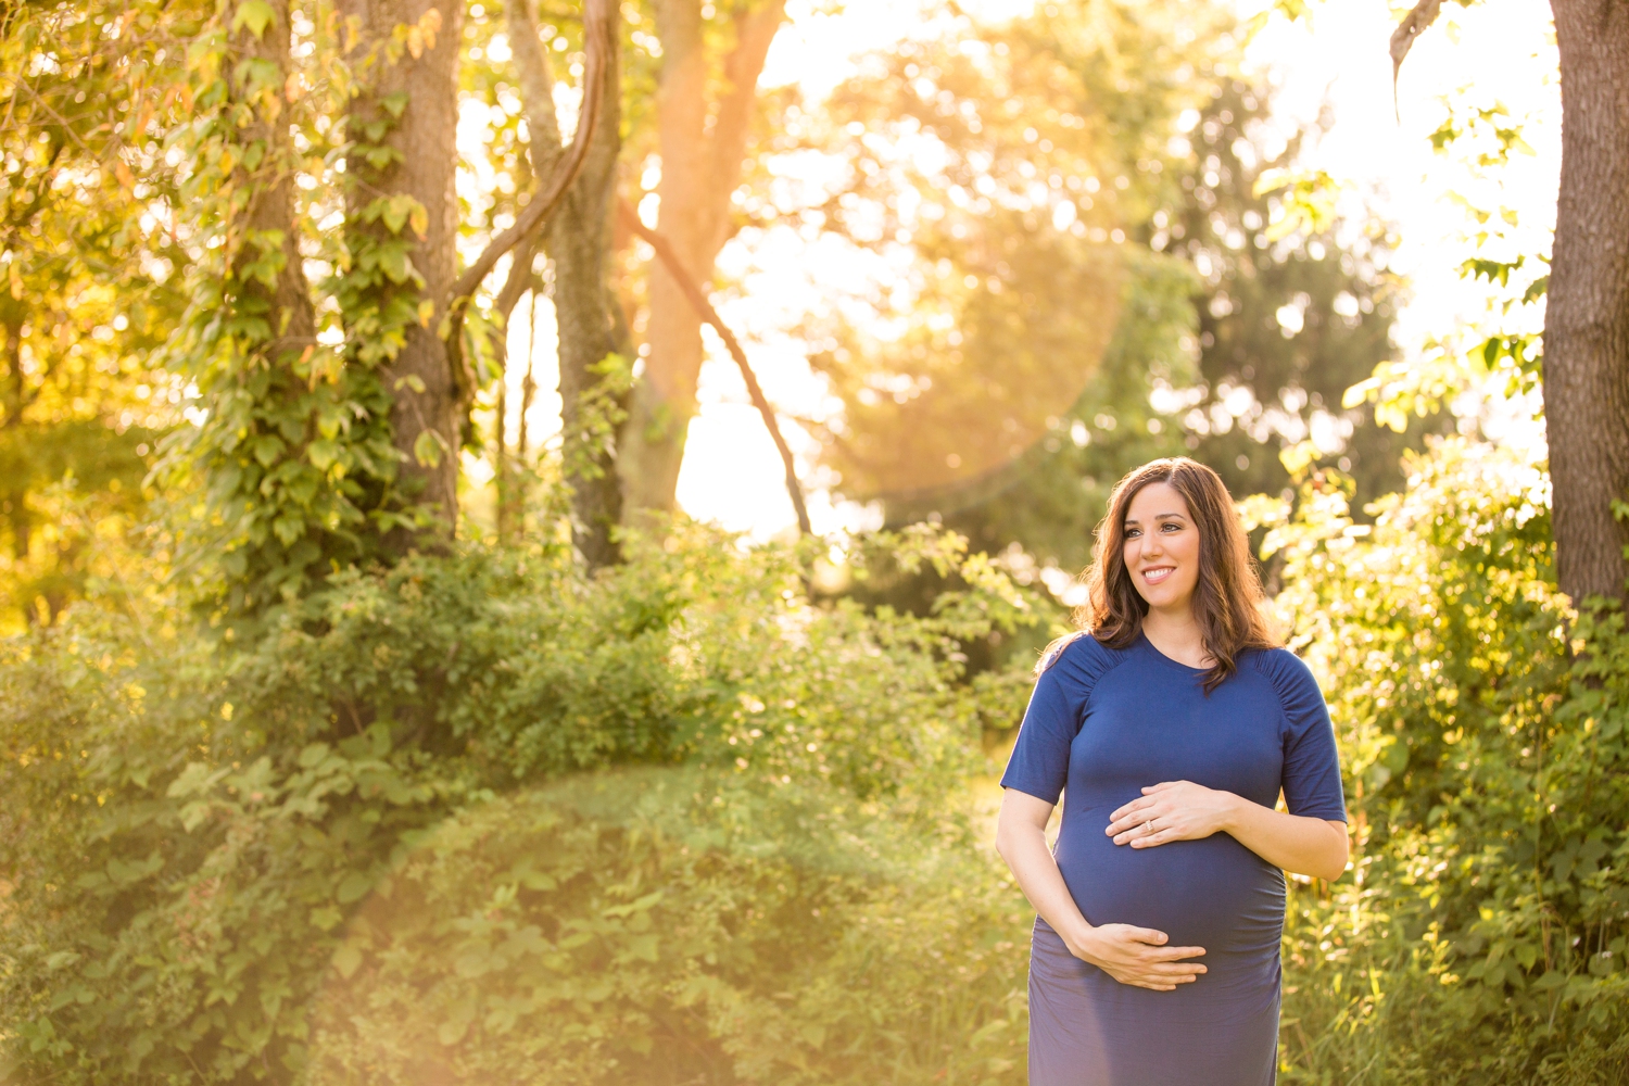
[[[1551,0],[1561,194],[1544,314],[1544,418],[1561,589],[1624,598],[1629,526],[1629,7]]]

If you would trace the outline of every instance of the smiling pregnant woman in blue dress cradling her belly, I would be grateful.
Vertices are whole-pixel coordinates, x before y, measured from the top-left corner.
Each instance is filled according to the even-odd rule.
[[[1209,467],[1122,479],[1087,589],[1002,777],[997,848],[1039,913],[1030,1083],[1269,1086],[1280,869],[1336,879],[1347,860],[1329,712],[1274,645]]]

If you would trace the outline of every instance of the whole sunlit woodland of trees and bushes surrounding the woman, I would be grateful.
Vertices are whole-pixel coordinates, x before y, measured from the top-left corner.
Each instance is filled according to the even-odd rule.
[[[1543,335],[1407,361],[1245,63],[1300,3],[929,3],[818,101],[777,0],[7,8],[3,1073],[1021,1081],[989,775],[1108,490],[1189,454],[1352,806],[1284,1081],[1629,1081],[1629,15],[1554,13],[1554,249],[1460,267]],[[714,304],[775,230],[889,269],[792,329],[831,412]],[[704,324],[881,531],[676,510]]]

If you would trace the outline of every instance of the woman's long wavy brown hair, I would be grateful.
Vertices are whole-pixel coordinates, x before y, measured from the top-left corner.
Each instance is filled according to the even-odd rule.
[[[1148,484],[1170,484],[1188,501],[1199,529],[1199,583],[1194,586],[1194,619],[1204,633],[1205,655],[1215,663],[1205,671],[1212,690],[1236,671],[1236,658],[1248,648],[1276,648],[1267,625],[1266,594],[1249,537],[1238,521],[1227,484],[1214,471],[1186,456],[1144,464],[1127,472],[1109,495],[1109,511],[1098,523],[1096,549],[1085,571],[1087,602],[1075,609],[1075,627],[1108,648],[1127,648],[1142,633],[1148,604],[1137,593],[1126,568],[1126,515],[1131,500]],[[1047,646],[1036,674],[1051,666],[1057,651],[1080,633]]]

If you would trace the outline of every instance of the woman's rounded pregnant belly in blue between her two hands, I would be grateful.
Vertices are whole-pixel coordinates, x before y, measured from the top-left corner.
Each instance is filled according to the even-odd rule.
[[[1091,925],[1129,923],[1202,946],[1212,972],[1271,959],[1284,931],[1284,874],[1227,834],[1153,848],[1116,845],[1103,830],[1111,806],[1065,801],[1057,868]]]

